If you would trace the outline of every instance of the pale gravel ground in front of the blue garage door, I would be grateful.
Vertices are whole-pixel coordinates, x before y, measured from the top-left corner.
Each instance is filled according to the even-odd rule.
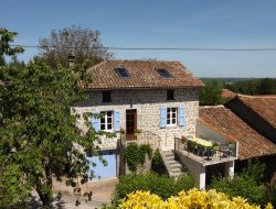
[[[73,188],[67,187],[64,182],[54,182],[54,208],[100,208],[103,204],[110,204],[112,194],[114,193],[117,183],[117,178],[109,178],[97,182],[89,182],[85,185],[82,185],[82,194],[84,194],[85,191],[93,191],[92,201],[87,201],[83,196],[74,194]],[[75,205],[77,200],[81,201],[79,206]],[[38,195],[35,193],[33,193],[33,199],[30,202],[30,208],[41,208],[41,202],[39,201]]]

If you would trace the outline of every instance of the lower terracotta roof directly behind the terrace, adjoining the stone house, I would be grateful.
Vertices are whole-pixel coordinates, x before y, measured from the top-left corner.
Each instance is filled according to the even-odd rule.
[[[276,145],[223,106],[201,107],[200,121],[216,132],[238,141],[238,158],[276,154]]]

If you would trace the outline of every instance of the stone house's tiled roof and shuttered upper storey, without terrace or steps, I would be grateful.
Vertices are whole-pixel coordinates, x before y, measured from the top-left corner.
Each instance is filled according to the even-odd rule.
[[[105,61],[88,69],[93,82],[89,99],[74,105],[78,125],[85,130],[83,113],[103,113],[92,119],[96,131],[116,132],[116,138],[102,138],[102,151],[114,152],[120,129],[127,141],[135,130],[141,135],[158,135],[162,150],[172,150],[174,136],[195,135],[199,116],[199,88],[203,86],[179,62]],[[144,138],[144,139],[145,139]],[[152,140],[152,139],[147,139]]]

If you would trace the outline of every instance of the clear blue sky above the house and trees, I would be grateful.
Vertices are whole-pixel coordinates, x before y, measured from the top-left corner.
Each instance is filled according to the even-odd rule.
[[[276,48],[276,0],[0,0],[15,44],[52,30],[100,31],[105,46]],[[112,51],[120,59],[180,61],[199,77],[276,77],[276,52]],[[20,59],[39,53],[26,48]]]

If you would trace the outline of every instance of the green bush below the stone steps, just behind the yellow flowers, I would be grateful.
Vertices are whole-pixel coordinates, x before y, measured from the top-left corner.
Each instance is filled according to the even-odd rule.
[[[119,199],[127,197],[128,194],[136,190],[149,190],[162,199],[167,199],[181,190],[189,190],[193,187],[194,182],[190,176],[182,176],[174,179],[167,175],[158,175],[156,173],[141,175],[130,174],[119,178],[119,184],[116,186],[114,194],[114,202],[117,202]]]

